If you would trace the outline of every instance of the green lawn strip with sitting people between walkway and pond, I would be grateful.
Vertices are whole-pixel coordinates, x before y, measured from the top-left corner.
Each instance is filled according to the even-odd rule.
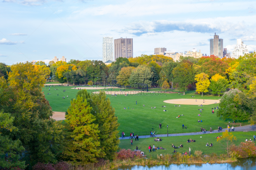
[[[253,135],[255,135],[255,132],[233,132],[233,135],[236,136],[237,140],[235,141],[236,145],[239,145],[241,142],[244,142],[246,138],[248,140],[252,138]],[[219,133],[218,135],[221,135]],[[136,146],[138,146],[139,150],[143,151],[145,155],[156,157],[156,155],[160,154],[166,154],[166,153],[172,153],[174,151],[174,148],[172,148],[172,144],[174,146],[180,146],[180,144],[183,145],[183,148],[175,149],[177,152],[187,152],[188,148],[190,147],[191,153],[194,153],[195,151],[203,151],[203,154],[221,154],[226,153],[224,149],[222,149],[219,142],[216,141],[217,134],[202,134],[202,135],[192,135],[192,136],[177,136],[177,137],[162,137],[161,142],[155,142],[154,137],[151,138],[139,138],[139,141],[135,141],[135,139],[132,139],[133,145],[131,146],[130,139],[120,140],[119,148],[121,149],[136,149]],[[202,138],[200,138],[202,137]],[[196,142],[187,143],[188,139],[194,139]],[[206,143],[213,144],[213,147],[207,147],[205,146]],[[166,150],[159,149],[156,150],[156,152],[150,152],[148,150],[148,146],[153,144],[156,147],[162,146]]]

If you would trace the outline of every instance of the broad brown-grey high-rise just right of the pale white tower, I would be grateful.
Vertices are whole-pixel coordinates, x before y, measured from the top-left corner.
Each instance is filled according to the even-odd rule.
[[[118,57],[133,57],[132,38],[119,38],[114,40],[115,61]]]

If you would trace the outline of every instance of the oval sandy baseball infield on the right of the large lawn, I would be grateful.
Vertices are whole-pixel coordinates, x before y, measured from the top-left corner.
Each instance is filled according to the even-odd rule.
[[[220,103],[220,100],[203,100],[203,99],[171,99],[164,100],[165,103],[180,104],[180,105],[210,105]]]

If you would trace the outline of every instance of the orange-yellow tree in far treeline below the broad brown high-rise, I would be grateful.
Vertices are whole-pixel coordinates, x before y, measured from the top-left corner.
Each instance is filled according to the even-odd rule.
[[[117,83],[119,85],[124,85],[124,86],[130,85],[129,78],[132,74],[132,70],[134,70],[134,69],[135,69],[134,67],[123,67],[119,71],[119,75],[116,76]]]

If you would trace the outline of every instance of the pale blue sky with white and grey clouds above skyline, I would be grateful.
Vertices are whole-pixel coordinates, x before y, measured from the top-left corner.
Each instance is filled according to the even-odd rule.
[[[102,60],[102,37],[133,38],[133,56],[154,48],[210,54],[216,32],[231,52],[256,49],[256,1],[0,0],[0,62]]]

